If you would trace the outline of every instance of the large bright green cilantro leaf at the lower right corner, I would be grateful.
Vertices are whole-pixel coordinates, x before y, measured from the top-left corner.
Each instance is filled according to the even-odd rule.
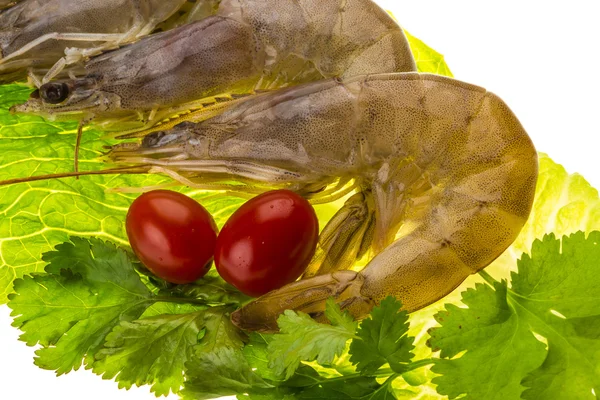
[[[446,358],[432,370],[456,398],[593,399],[600,390],[600,232],[554,235],[523,255],[512,288],[478,285],[469,307],[447,305],[431,346]],[[537,336],[536,336],[537,335]],[[536,337],[543,338],[547,347]],[[461,357],[457,356],[460,353]]]

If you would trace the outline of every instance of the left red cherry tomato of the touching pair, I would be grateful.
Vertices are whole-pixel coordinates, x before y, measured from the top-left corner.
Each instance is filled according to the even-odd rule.
[[[190,283],[210,269],[217,225],[191,198],[167,190],[144,193],[131,204],[125,226],[133,251],[159,278]]]

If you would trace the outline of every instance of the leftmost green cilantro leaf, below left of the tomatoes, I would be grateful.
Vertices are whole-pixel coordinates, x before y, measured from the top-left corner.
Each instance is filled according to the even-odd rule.
[[[137,319],[154,300],[136,282],[125,252],[112,244],[73,238],[46,257],[48,273],[17,280],[9,307],[13,325],[24,332],[20,339],[43,346],[35,364],[61,375],[79,369],[82,360],[90,366],[110,331]]]

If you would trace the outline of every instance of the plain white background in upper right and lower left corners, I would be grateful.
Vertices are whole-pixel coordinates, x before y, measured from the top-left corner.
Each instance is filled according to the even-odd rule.
[[[325,0],[323,0],[325,1]],[[457,79],[502,97],[533,138],[569,172],[600,187],[600,33],[596,1],[380,0],[413,35],[446,56]],[[90,372],[56,378],[32,364],[0,306],[0,397],[44,400],[154,398],[118,390]],[[176,398],[176,397],[173,397]]]

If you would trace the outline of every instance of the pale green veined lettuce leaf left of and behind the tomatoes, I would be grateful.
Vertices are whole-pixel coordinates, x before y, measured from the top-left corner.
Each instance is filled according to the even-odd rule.
[[[0,181],[73,171],[77,123],[49,122],[8,111],[12,105],[24,102],[30,92],[22,85],[0,87]],[[102,157],[104,146],[112,142],[101,137],[102,133],[95,130],[84,132],[79,162],[82,171],[110,167]],[[41,255],[70,236],[98,237],[129,245],[124,221],[138,194],[111,189],[171,183],[159,175],[110,175],[0,187],[0,304],[7,302],[15,279],[42,272],[45,262]],[[215,196],[214,192],[170,189],[198,200],[219,227],[244,202]],[[339,203],[318,206],[317,215],[327,221],[337,208]]]

